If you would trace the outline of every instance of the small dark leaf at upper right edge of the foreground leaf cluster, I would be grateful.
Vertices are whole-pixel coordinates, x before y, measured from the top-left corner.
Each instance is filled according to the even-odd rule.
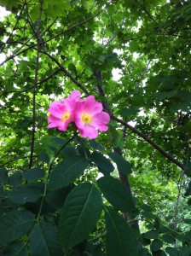
[[[127,160],[124,160],[122,156],[114,153],[109,153],[108,155],[118,166],[119,172],[122,172],[125,175],[128,175],[131,173],[130,163]]]

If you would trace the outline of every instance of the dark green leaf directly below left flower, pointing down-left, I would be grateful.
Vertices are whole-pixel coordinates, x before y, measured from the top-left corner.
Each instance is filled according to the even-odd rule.
[[[67,185],[72,183],[84,172],[88,165],[89,160],[86,160],[82,156],[68,157],[61,161],[50,173],[48,188],[54,190],[67,187]]]

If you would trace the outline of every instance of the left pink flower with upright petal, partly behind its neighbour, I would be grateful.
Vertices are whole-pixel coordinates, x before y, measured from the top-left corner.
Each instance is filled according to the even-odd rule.
[[[73,121],[73,113],[76,102],[79,101],[80,92],[72,91],[71,96],[68,96],[61,102],[52,102],[49,106],[48,128],[57,127],[61,131],[67,131],[67,126]]]

